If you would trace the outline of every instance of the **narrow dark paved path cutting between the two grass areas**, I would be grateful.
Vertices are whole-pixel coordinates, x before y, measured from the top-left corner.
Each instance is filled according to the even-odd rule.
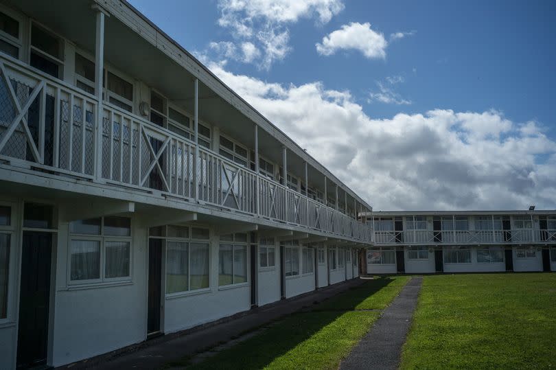
[[[422,277],[414,277],[404,286],[371,330],[343,360],[340,369],[397,369],[422,281]]]

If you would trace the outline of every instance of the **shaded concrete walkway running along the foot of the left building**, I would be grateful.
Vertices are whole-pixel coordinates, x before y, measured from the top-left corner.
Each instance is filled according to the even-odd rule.
[[[124,351],[75,362],[59,369],[159,369],[168,362],[181,360],[199,351],[229,342],[245,334],[246,331],[334,297],[340,292],[363,284],[364,281],[364,279],[352,279],[345,283],[320,288],[316,292],[303,294],[301,297],[286,299],[224,319],[216,325],[205,325],[181,333],[169,334],[139,343]]]

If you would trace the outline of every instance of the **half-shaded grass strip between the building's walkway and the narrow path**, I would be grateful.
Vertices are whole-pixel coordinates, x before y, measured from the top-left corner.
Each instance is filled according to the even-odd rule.
[[[337,369],[380,315],[365,310],[385,308],[407,280],[369,280],[188,369]],[[187,359],[170,365],[187,365]]]

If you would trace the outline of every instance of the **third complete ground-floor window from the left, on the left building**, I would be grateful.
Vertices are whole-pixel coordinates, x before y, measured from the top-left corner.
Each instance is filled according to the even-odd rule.
[[[222,235],[218,257],[218,286],[247,282],[247,234]]]

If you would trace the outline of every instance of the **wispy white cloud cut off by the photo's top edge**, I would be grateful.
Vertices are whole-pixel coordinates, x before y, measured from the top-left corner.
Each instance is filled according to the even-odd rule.
[[[268,71],[291,51],[288,25],[302,18],[325,24],[344,4],[343,0],[219,0],[218,8],[218,25],[231,31],[234,43],[243,51],[241,58],[233,54],[233,59]],[[230,58],[226,53],[219,56]]]

